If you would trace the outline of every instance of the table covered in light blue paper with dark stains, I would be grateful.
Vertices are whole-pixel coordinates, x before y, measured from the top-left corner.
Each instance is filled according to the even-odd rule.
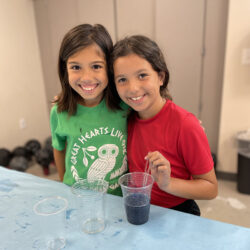
[[[36,249],[39,232],[34,204],[45,197],[72,195],[63,183],[0,167],[0,250]],[[151,205],[149,221],[127,222],[122,198],[107,195],[107,226],[101,233],[71,232],[65,249],[249,250],[250,229]],[[58,230],[63,230],[58,228]]]

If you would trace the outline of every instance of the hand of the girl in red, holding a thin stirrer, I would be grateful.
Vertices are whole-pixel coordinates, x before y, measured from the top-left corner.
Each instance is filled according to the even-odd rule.
[[[170,183],[170,162],[158,151],[149,152],[145,159],[159,188],[166,190]]]

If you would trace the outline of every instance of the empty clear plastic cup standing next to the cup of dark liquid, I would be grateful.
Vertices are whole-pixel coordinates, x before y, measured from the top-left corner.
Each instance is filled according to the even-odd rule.
[[[79,179],[71,187],[75,196],[75,213],[72,223],[75,228],[88,234],[104,230],[105,222],[105,194],[108,182],[102,179]]]

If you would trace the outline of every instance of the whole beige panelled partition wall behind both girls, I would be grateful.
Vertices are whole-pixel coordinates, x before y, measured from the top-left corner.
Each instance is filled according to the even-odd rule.
[[[125,35],[145,34],[156,39],[166,52],[174,101],[199,115],[211,150],[217,153],[227,2],[71,0],[69,4],[67,0],[36,0],[47,103],[60,91],[57,54],[62,36],[69,28],[84,22],[102,23],[114,41]],[[203,43],[207,52],[204,60]]]

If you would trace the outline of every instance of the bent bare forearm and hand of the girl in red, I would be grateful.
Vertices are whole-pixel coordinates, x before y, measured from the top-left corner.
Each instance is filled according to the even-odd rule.
[[[213,199],[218,193],[214,169],[202,175],[194,175],[193,180],[170,177],[169,161],[158,151],[148,153],[151,174],[159,188],[169,194],[186,199]]]

